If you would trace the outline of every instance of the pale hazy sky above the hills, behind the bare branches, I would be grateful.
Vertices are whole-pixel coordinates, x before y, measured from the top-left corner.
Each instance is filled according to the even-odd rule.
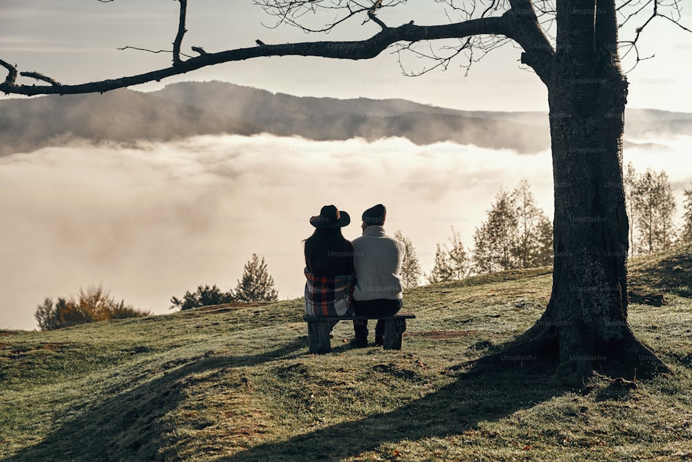
[[[692,10],[688,8],[682,13],[686,26],[692,27]],[[172,48],[177,15],[176,1],[3,0],[0,57],[16,63],[20,71],[37,71],[62,83],[118,78],[159,69],[170,63],[170,54],[116,48]],[[421,0],[400,10],[382,12],[381,18],[393,26],[410,19],[417,24],[448,21],[440,3]],[[255,39],[268,44],[363,39],[376,32],[373,24],[361,26],[360,21],[330,35],[306,35],[288,26],[266,28],[263,22],[272,24],[272,17],[251,0],[190,1],[183,51],[189,52],[190,46],[202,46],[209,52],[254,46]],[[628,73],[628,107],[692,111],[692,34],[657,19],[646,29],[640,53],[655,57]],[[410,55],[404,59],[407,69],[424,65]],[[452,62],[447,71],[410,78],[401,74],[397,56],[387,52],[360,62],[271,57],[211,66],[134,89],[158,89],[176,80],[225,80],[298,96],[406,98],[473,110],[547,110],[545,87],[534,73],[520,68],[519,59],[520,49],[508,44],[474,64],[466,78],[459,62]],[[33,80],[22,82],[30,84]]]

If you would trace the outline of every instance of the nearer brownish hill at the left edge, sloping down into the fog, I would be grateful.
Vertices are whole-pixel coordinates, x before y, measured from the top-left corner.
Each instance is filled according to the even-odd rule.
[[[75,137],[127,143],[261,132],[246,121],[127,89],[3,100],[0,114],[0,155],[62,145]]]

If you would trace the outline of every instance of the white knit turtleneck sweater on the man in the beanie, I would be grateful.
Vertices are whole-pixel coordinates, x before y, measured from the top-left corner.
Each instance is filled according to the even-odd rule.
[[[352,242],[358,279],[355,300],[401,299],[403,242],[385,235],[382,226],[367,226],[363,236]]]

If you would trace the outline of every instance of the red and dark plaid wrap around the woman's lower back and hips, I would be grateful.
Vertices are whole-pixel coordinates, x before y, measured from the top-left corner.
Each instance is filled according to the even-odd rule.
[[[305,313],[309,316],[353,316],[355,274],[317,276],[305,269]]]

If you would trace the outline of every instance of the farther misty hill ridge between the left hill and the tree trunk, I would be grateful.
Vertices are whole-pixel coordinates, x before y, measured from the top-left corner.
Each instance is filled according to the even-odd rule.
[[[316,140],[403,136],[419,145],[438,141],[533,153],[550,146],[547,116],[537,112],[458,111],[401,99],[298,97],[227,82],[180,82],[152,93],[265,128]],[[544,121],[541,119],[545,119]]]

